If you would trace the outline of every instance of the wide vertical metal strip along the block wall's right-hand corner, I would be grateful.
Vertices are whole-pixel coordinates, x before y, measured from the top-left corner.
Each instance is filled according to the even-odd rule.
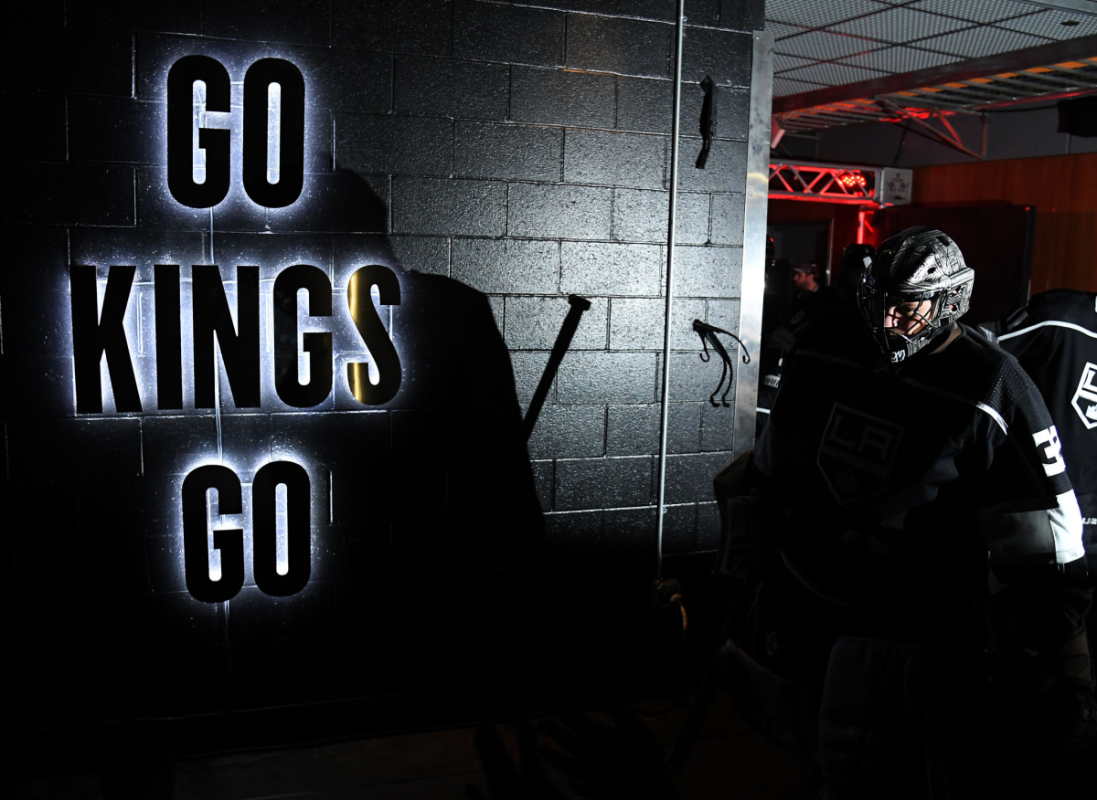
[[[761,304],[766,290],[766,213],[769,204],[769,141],[773,104],[773,34],[754,32],[750,68],[750,117],[747,126],[747,191],[743,214],[743,281],[739,339],[757,353],[735,370],[735,428],[732,456],[754,448],[758,413],[758,364],[761,362]]]

